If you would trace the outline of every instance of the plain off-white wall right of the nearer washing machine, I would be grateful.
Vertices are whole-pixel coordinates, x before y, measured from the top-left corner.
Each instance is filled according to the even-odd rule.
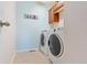
[[[65,2],[64,55],[56,63],[87,63],[87,2]]]

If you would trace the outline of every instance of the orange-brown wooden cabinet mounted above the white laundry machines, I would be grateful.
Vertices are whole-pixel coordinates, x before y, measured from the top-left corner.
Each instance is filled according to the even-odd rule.
[[[48,23],[59,22],[59,13],[63,10],[62,2],[55,2],[54,6],[48,10]]]

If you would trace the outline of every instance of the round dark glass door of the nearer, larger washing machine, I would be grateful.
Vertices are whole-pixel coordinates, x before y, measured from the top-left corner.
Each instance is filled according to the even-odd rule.
[[[54,56],[61,56],[63,53],[63,42],[61,37],[56,34],[51,34],[48,39],[48,46],[52,55]]]

